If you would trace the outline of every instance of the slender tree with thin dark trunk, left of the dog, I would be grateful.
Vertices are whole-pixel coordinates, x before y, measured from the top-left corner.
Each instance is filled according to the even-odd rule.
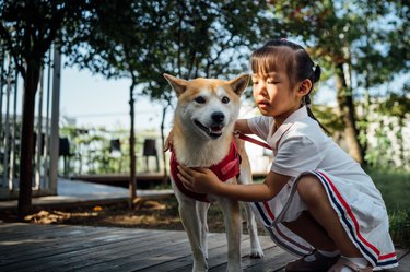
[[[129,78],[130,84],[130,181],[129,205],[136,198],[134,152],[134,88],[140,83],[139,70],[147,55],[152,54],[151,39],[155,39],[166,14],[161,9],[166,1],[99,1],[86,24],[83,35],[75,36],[65,51],[69,62],[87,68],[94,73],[110,78]],[[126,29],[126,31],[122,31]],[[72,29],[74,33],[75,29]],[[70,35],[68,35],[70,36]]]

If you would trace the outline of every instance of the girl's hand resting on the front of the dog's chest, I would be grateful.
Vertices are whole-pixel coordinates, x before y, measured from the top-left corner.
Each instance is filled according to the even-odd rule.
[[[218,186],[222,184],[208,168],[189,168],[179,165],[177,175],[185,188],[197,193],[215,193]]]

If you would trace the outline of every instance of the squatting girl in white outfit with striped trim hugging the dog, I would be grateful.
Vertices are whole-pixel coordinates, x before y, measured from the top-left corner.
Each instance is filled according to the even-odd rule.
[[[272,239],[304,256],[286,271],[372,271],[397,265],[386,208],[372,179],[328,138],[311,111],[320,68],[300,46],[272,40],[250,59],[262,116],[237,120],[273,150],[262,184],[229,185],[206,168],[180,166],[187,189],[250,201]]]

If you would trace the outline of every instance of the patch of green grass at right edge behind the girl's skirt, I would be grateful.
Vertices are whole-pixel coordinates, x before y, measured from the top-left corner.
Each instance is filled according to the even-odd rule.
[[[370,169],[386,203],[390,235],[396,246],[410,247],[410,173]]]

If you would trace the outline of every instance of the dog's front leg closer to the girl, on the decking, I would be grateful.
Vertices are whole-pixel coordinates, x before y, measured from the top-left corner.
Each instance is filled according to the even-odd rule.
[[[242,218],[239,211],[239,203],[237,201],[219,198],[218,202],[221,204],[225,232],[227,239],[227,268],[229,272],[242,271],[241,268],[241,235],[242,235]]]

